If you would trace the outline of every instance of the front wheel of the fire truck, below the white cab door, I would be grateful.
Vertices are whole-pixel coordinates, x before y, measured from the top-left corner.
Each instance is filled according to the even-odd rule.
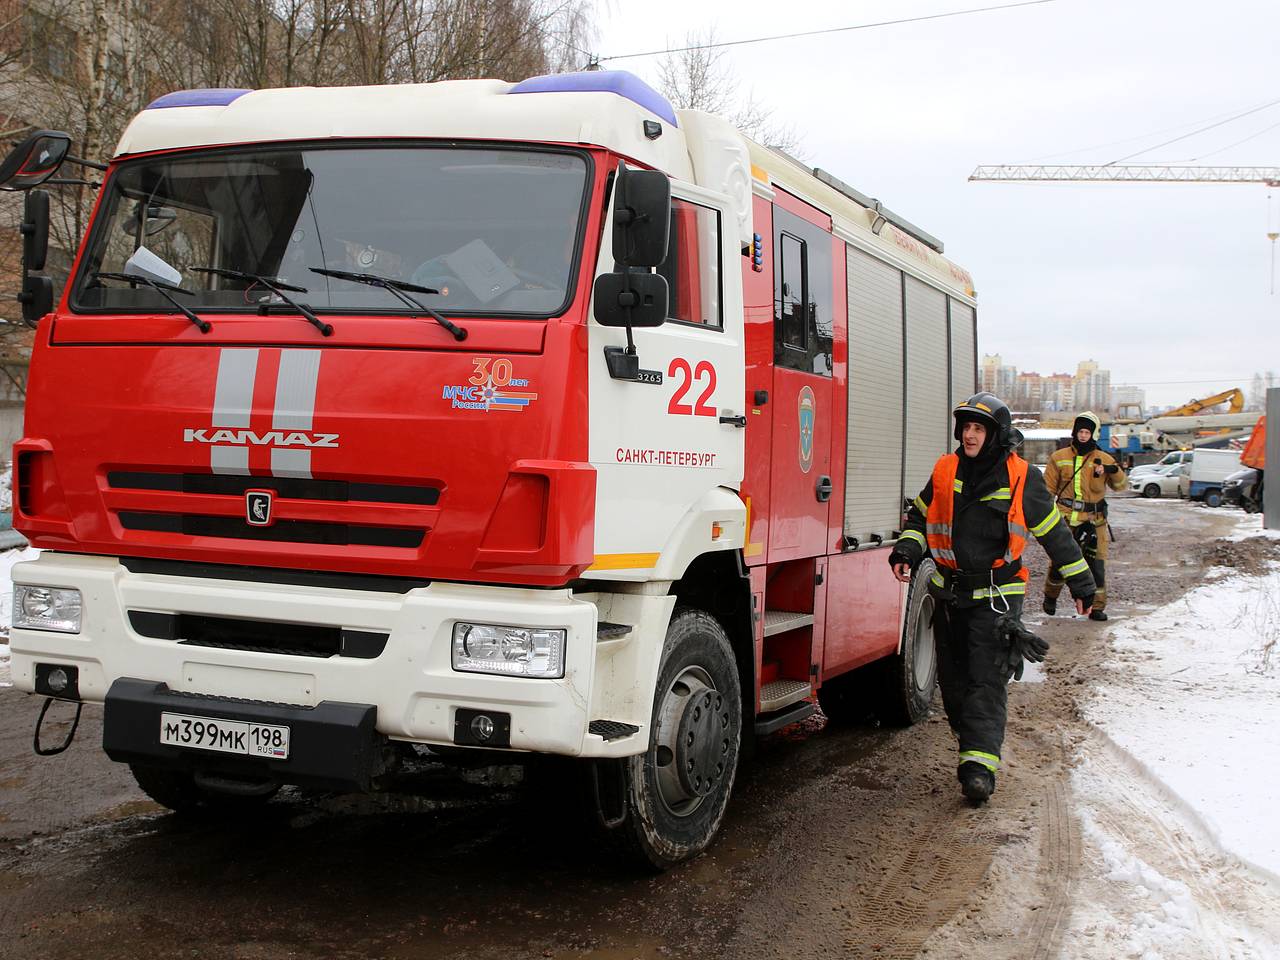
[[[733,790],[742,732],[737,666],[719,622],[677,609],[667,627],[649,749],[622,762],[616,851],[664,870],[714,840]]]

